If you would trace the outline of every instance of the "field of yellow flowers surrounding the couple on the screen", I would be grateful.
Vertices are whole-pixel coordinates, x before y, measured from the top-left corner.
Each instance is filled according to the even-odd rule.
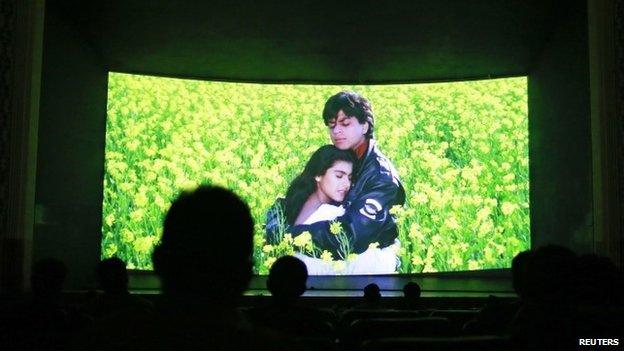
[[[309,233],[285,232],[269,243],[264,230],[276,199],[312,153],[331,144],[322,111],[342,90],[370,100],[375,142],[405,188],[405,205],[391,210],[397,273],[507,268],[530,247],[526,77],[339,86],[110,73],[102,257],[152,269],[171,201],[215,184],[251,208],[256,274],[296,253],[349,274],[358,255],[348,237],[336,255]],[[339,222],[332,233],[345,235]],[[371,242],[366,252],[378,246]]]

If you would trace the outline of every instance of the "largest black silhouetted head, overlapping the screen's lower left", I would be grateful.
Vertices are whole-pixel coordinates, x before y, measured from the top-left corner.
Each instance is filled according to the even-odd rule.
[[[251,278],[253,228],[249,207],[229,190],[181,194],[152,255],[163,292],[234,302]]]

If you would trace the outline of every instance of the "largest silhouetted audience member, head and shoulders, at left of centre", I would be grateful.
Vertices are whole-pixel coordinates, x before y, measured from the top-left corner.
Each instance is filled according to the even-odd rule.
[[[281,350],[289,339],[253,328],[236,306],[252,274],[253,220],[233,192],[201,186],[183,193],[154,249],[162,295],[149,317],[100,323],[81,349]]]

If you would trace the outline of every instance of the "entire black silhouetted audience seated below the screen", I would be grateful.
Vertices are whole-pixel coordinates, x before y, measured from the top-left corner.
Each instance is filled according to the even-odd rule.
[[[83,330],[91,320],[63,303],[65,265],[44,259],[33,266],[32,295],[1,307],[0,346],[2,350],[65,349],[70,338],[78,335],[71,349],[279,351],[303,349],[305,344],[323,350],[342,345],[349,350],[377,334],[397,334],[390,332],[393,326],[422,332],[419,324],[409,323],[424,327],[425,322],[444,319],[447,323],[425,332],[429,338],[415,341],[419,348],[435,346],[427,343],[446,337],[451,348],[475,340],[492,348],[509,340],[505,348],[512,350],[568,350],[578,346],[580,337],[619,338],[624,330],[622,271],[604,257],[577,256],[556,245],[514,257],[512,284],[518,299],[490,297],[461,333],[449,327],[447,317],[418,315],[429,311],[421,310],[416,282],[403,287],[401,308],[419,311],[383,309],[375,283],[363,289],[362,303],[343,310],[340,318],[306,307],[301,296],[306,291],[307,268],[292,256],[273,263],[266,282],[271,292],[268,304],[241,313],[239,299],[252,274],[253,228],[249,208],[231,191],[201,186],[183,193],[167,212],[162,238],[152,255],[162,290],[153,305],[129,293],[125,262],[103,260],[96,269],[103,294],[89,309],[95,322]],[[457,317],[459,312],[472,311],[434,312],[448,312],[446,316],[453,318],[450,312]],[[472,341],[467,337],[462,344],[449,333],[489,336]],[[389,345],[393,344],[385,349],[392,349]],[[414,348],[416,344],[404,345]]]

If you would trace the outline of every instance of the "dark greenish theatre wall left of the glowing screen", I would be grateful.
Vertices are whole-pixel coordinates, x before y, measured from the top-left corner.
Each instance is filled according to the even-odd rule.
[[[93,282],[99,260],[107,71],[78,28],[45,21],[33,257],[58,257],[68,287]]]

